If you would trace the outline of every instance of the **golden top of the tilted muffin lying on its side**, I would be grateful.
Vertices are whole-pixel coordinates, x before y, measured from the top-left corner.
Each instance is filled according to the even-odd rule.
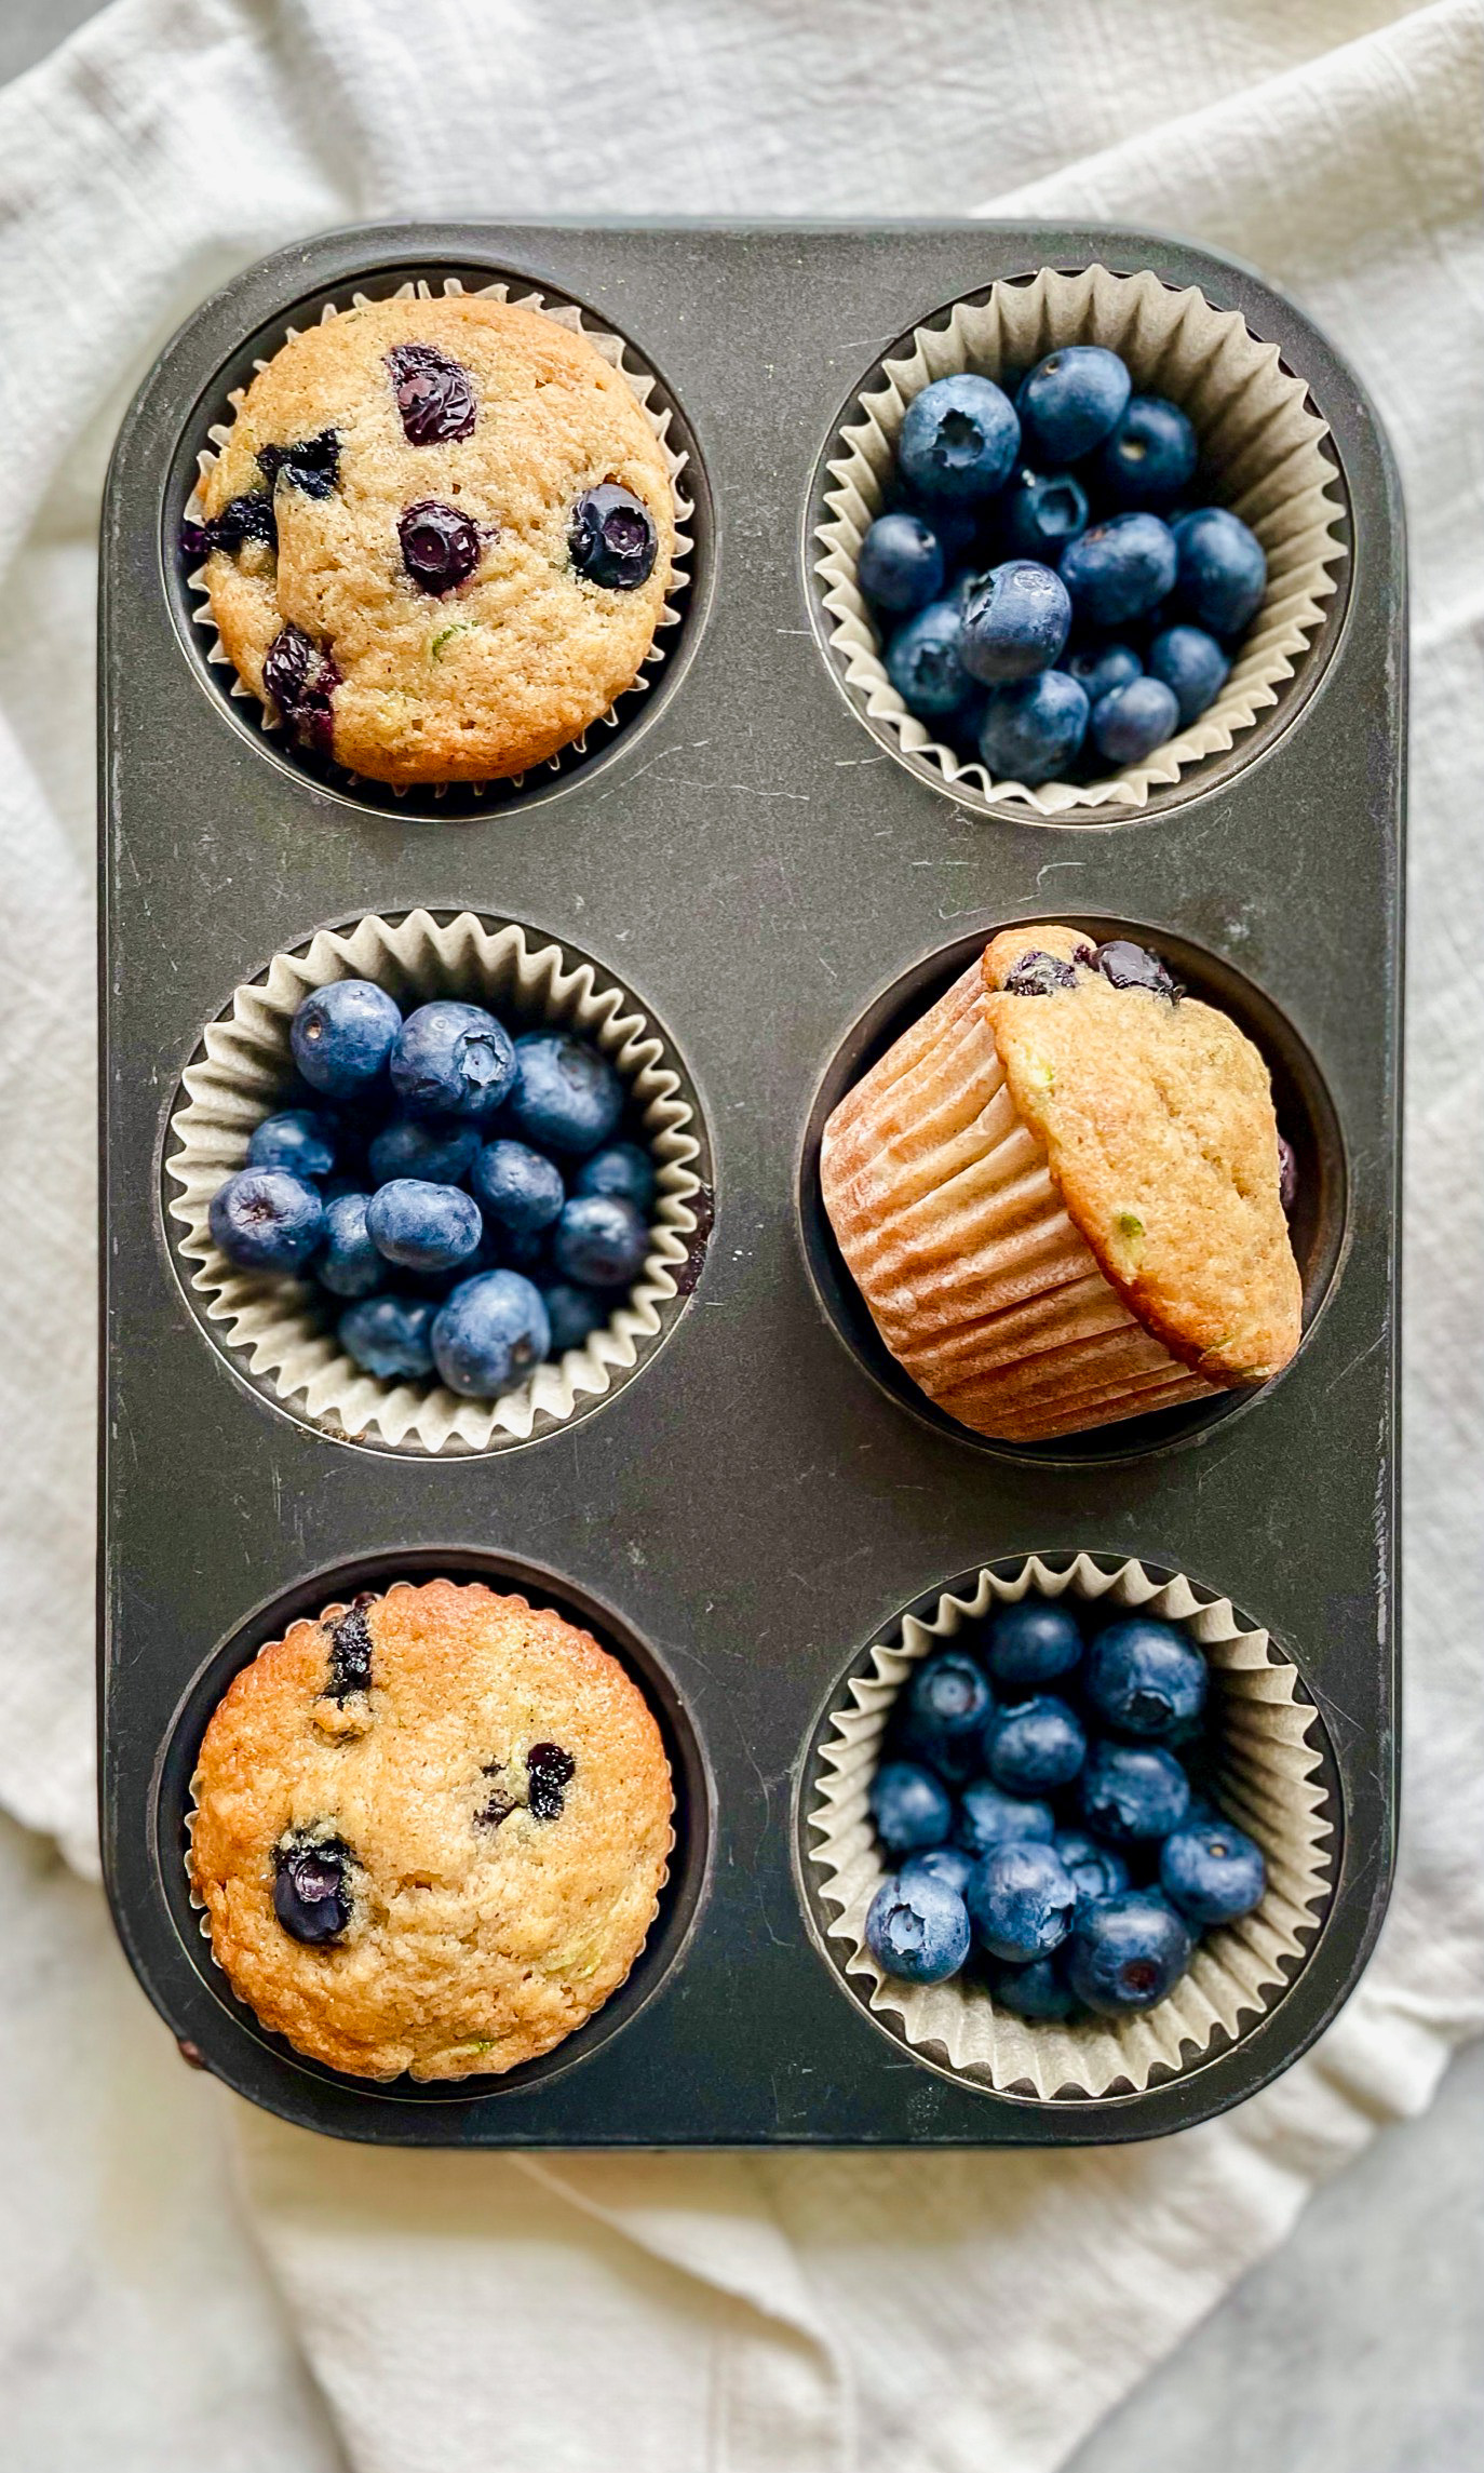
[[[1145,984],[1113,984],[1076,927],[1009,927],[984,950],[1014,1105],[1140,1323],[1212,1382],[1264,1382],[1294,1355],[1303,1308],[1269,1071],[1140,947],[1103,955]]]

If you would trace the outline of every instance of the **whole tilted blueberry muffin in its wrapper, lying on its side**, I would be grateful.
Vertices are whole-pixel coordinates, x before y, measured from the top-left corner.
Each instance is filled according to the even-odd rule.
[[[1143,1417],[1298,1345],[1266,1066],[1138,945],[997,935],[834,1110],[821,1185],[893,1358],[979,1434]]]

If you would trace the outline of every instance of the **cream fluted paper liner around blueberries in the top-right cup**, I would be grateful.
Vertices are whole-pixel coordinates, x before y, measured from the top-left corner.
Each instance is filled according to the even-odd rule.
[[[895,443],[913,396],[962,368],[999,378],[1024,371],[1061,344],[1106,344],[1123,354],[1135,393],[1170,396],[1200,433],[1200,485],[1252,524],[1269,559],[1264,603],[1252,621],[1222,695],[1200,720],[1143,764],[1086,786],[997,781],[982,759],[965,759],[932,737],[885,675],[871,606],[856,581],[868,524],[881,514],[895,467]],[[1234,309],[1212,309],[1195,287],[1175,292],[1158,275],[1044,267],[1031,282],[997,282],[982,299],[957,302],[942,326],[915,326],[913,346],[883,364],[878,386],[858,396],[841,425],[843,453],[829,462],[829,519],[819,527],[816,576],[824,584],[829,641],[871,720],[962,791],[1029,809],[1061,824],[1108,824],[1143,809],[1202,757],[1224,754],[1259,712],[1276,705],[1336,594],[1331,574],[1345,559],[1338,472],[1323,450],[1321,420],[1303,378],[1291,376],[1276,344],[1261,344]]]

